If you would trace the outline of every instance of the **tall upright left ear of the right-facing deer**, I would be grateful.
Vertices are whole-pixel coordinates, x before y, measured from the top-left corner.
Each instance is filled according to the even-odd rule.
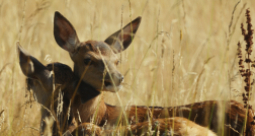
[[[67,50],[69,53],[74,53],[79,39],[72,24],[58,11],[54,17],[54,37],[58,45]]]

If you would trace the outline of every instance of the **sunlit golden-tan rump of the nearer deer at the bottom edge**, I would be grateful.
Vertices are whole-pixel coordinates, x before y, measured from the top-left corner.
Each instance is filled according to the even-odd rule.
[[[148,121],[137,123],[131,126],[131,130],[135,135],[144,134],[144,131],[153,130],[154,133],[173,134],[174,136],[216,136],[215,133],[207,128],[201,127],[196,123],[180,117],[156,119],[151,122]]]

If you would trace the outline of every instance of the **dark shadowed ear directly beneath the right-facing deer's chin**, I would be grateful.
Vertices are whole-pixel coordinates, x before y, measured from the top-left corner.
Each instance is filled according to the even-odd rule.
[[[97,91],[91,85],[89,85],[83,81],[80,83],[77,92],[80,95],[82,103],[85,103],[100,94],[99,91]]]

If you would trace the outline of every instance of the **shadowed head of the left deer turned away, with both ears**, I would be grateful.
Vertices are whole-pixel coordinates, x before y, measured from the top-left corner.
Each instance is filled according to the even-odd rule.
[[[74,90],[78,85],[79,78],[75,77],[69,66],[61,63],[51,63],[44,66],[36,58],[26,53],[19,46],[19,43],[17,45],[21,70],[27,76],[27,87],[33,90],[34,98],[37,102],[49,108],[50,98],[52,98],[54,91],[53,80],[55,82],[55,90],[60,89],[67,99],[71,99],[75,95]],[[92,86],[84,82],[79,84],[77,92],[83,103],[100,94]]]

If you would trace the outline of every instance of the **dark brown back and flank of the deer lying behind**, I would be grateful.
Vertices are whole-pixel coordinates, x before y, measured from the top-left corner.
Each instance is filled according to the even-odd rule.
[[[120,118],[121,109],[107,104],[106,106],[105,120],[110,124],[115,124]],[[221,106],[225,106],[222,111]],[[248,122],[253,120],[251,112],[249,111]],[[126,113],[131,124],[144,122],[148,120],[148,117],[158,119],[176,116],[184,117],[201,126],[209,127],[214,132],[221,132],[222,130],[219,127],[224,124],[224,135],[239,136],[243,131],[246,109],[243,104],[231,100],[226,101],[225,105],[224,102],[205,101],[169,108],[130,106]],[[223,119],[224,122],[222,121]],[[247,123],[247,133],[252,136],[254,135],[254,130],[255,128],[250,123]]]

